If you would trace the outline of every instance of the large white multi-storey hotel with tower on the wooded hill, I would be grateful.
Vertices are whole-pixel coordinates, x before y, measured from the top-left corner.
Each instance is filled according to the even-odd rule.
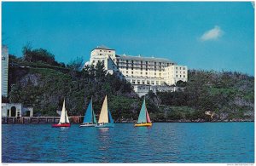
[[[147,94],[149,90],[175,91],[177,81],[188,81],[188,67],[177,63],[154,57],[141,55],[131,56],[116,54],[114,49],[98,46],[90,53],[90,62],[85,65],[94,65],[98,61],[104,63],[109,73],[115,72],[119,77],[125,77],[139,96]]]

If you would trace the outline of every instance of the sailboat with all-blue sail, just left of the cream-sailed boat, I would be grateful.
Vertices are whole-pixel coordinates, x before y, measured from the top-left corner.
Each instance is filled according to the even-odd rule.
[[[92,99],[91,99],[87,107],[87,110],[85,112],[84,121],[82,124],[80,124],[79,127],[94,127],[96,123],[97,123],[96,117],[92,109]]]

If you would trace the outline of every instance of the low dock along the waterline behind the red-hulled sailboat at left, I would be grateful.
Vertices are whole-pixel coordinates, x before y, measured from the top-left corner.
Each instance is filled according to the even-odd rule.
[[[2,124],[58,123],[61,117],[2,117]],[[70,123],[82,123],[84,116],[70,116]]]

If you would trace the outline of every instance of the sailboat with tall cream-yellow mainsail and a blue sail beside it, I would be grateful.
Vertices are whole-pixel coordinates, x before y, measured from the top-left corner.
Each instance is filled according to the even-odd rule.
[[[113,118],[111,116],[111,113],[108,110],[107,95],[105,97],[105,100],[103,101],[99,122],[96,124],[95,127],[96,128],[113,128],[114,127]]]

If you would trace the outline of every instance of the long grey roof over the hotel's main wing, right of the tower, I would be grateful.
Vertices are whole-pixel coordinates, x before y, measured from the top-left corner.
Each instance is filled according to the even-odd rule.
[[[165,59],[165,58],[154,58],[154,57],[143,57],[143,56],[131,56],[131,55],[125,55],[125,54],[117,54],[117,57],[119,57],[122,60],[143,60],[143,61],[153,61],[153,62],[166,62],[166,63],[174,63],[175,62]]]

